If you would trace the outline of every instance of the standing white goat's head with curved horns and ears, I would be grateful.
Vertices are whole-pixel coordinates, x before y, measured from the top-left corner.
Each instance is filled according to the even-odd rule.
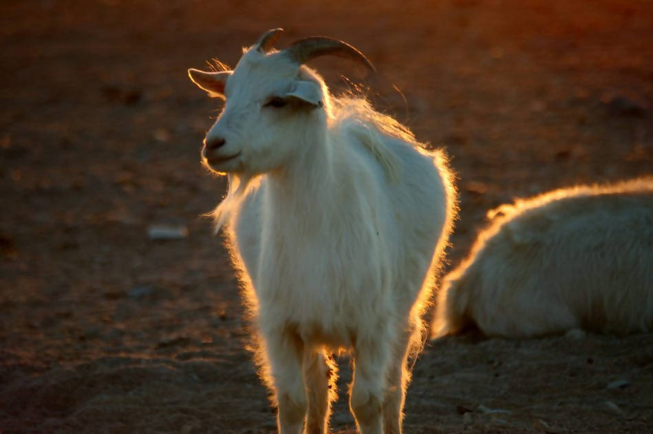
[[[281,31],[263,34],[233,71],[189,69],[198,87],[226,99],[202,149],[202,160],[214,171],[255,174],[277,169],[308,139],[307,128],[325,124],[328,91],[322,78],[303,63],[332,54],[374,70],[363,54],[336,39],[312,37],[285,50],[270,50]]]

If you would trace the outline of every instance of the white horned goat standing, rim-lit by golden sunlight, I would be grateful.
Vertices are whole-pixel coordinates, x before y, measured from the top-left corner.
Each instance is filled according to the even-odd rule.
[[[277,52],[266,32],[233,71],[190,69],[226,105],[204,164],[229,173],[215,210],[258,334],[281,433],[323,433],[331,351],[352,349],[350,407],[363,433],[399,433],[409,373],[455,213],[444,156],[365,100],[332,98],[303,66],[354,47],[314,37]],[[383,427],[382,428],[382,424]]]

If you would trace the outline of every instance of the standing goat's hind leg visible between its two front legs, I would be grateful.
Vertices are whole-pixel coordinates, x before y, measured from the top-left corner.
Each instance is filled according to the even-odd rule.
[[[304,351],[304,380],[308,389],[307,434],[327,432],[330,405],[336,397],[337,367],[321,351]]]

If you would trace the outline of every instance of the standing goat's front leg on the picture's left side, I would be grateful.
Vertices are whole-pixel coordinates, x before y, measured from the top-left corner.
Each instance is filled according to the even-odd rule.
[[[303,342],[287,327],[264,331],[277,399],[279,434],[301,434],[308,409],[302,376]]]

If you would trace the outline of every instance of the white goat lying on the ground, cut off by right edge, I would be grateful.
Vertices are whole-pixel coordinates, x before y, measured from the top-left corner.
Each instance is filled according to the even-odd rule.
[[[564,188],[488,213],[444,279],[433,335],[653,329],[653,178]]]

